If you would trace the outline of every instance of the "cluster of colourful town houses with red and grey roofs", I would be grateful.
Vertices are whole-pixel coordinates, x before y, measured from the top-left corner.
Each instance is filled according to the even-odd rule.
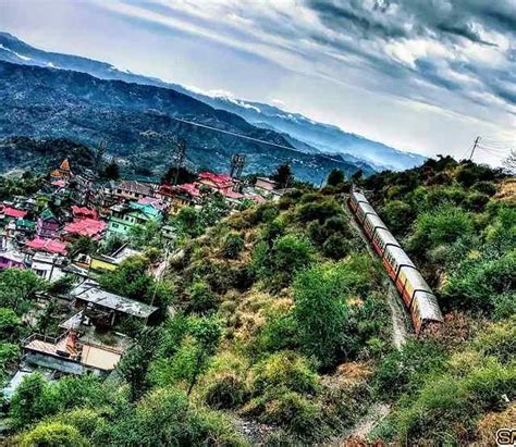
[[[96,272],[118,269],[124,259],[138,254],[136,250],[122,246],[110,254],[85,257],[71,253],[73,243],[82,237],[123,240],[136,225],[150,221],[161,224],[165,238],[173,238],[163,225],[168,216],[183,207],[199,207],[207,191],[220,193],[233,206],[281,195],[266,177],[243,187],[229,175],[210,172],[182,185],[133,179],[102,183],[90,172],[74,174],[64,160],[37,194],[0,202],[0,271],[30,269],[49,282],[72,274],[78,283],[69,294],[40,297],[42,307],[52,299],[67,310],[59,325],[61,333],[53,338],[34,333],[24,340],[24,360],[4,389],[7,397],[35,368],[50,376],[108,374],[130,345],[128,337],[118,332],[120,323],[127,318],[147,323],[157,311],[106,291],[95,281]]]

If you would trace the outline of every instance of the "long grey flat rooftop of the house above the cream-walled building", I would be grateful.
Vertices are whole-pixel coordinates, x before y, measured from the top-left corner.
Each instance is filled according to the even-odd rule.
[[[85,281],[79,284],[71,291],[71,295],[82,301],[91,302],[107,309],[143,319],[148,318],[158,310],[157,307],[102,290],[94,281]]]

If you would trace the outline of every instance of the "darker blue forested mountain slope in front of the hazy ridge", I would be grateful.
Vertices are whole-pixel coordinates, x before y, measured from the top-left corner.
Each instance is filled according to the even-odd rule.
[[[187,158],[197,167],[226,171],[230,157],[247,156],[246,172],[272,172],[290,162],[299,178],[319,183],[340,167],[351,175],[355,164],[294,149],[278,133],[216,110],[170,88],[98,79],[90,75],[0,62],[0,137],[25,135],[71,138],[88,145],[108,140],[109,150],[133,164],[164,167],[172,162],[170,137],[187,141]],[[176,119],[213,126],[277,146],[235,138]],[[153,137],[146,137],[152,133]],[[360,166],[366,173],[372,169]]]

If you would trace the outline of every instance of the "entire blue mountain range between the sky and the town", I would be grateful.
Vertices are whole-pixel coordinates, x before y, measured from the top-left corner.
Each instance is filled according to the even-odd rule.
[[[88,145],[108,139],[109,150],[136,169],[170,163],[172,135],[187,140],[196,166],[224,171],[229,157],[241,152],[247,172],[268,173],[291,162],[297,176],[316,183],[333,167],[370,174],[425,160],[273,105],[213,97],[105,62],[47,52],[7,33],[0,33],[0,61],[7,87],[0,92],[0,136],[67,137]],[[149,134],[153,137],[143,137]]]

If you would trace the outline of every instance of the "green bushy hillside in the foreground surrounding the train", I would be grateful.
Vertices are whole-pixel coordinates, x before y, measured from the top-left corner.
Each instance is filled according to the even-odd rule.
[[[516,415],[514,179],[444,158],[354,182],[433,287],[440,331],[393,346],[389,280],[352,225],[351,183],[337,173],[321,190],[298,184],[233,213],[217,200],[187,207],[169,222],[170,253],[145,228],[132,240],[145,254],[99,278],[159,306],[159,321],[125,327],[135,343],[106,382],[26,380],[11,439],[492,443]],[[379,405],[381,421],[370,414]],[[368,413],[373,430],[358,432]]]

